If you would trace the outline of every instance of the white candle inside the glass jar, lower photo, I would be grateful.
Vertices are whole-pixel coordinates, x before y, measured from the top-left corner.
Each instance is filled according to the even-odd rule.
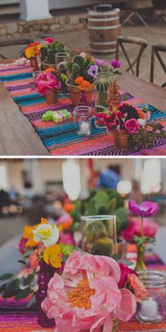
[[[158,304],[155,300],[149,298],[144,300],[141,305],[141,314],[143,317],[155,319],[158,317]]]

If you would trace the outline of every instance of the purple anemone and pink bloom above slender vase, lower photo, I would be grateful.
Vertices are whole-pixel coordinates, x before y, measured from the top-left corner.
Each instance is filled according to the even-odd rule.
[[[144,249],[146,243],[155,242],[155,234],[158,231],[158,224],[152,222],[151,219],[145,219],[147,217],[153,217],[158,210],[158,203],[152,203],[144,201],[141,205],[137,205],[134,200],[129,201],[129,210],[132,215],[139,217],[134,219],[130,217],[129,225],[125,231],[122,231],[121,235],[129,242],[136,243],[137,247],[137,262],[136,270],[146,269],[146,264],[143,259]]]

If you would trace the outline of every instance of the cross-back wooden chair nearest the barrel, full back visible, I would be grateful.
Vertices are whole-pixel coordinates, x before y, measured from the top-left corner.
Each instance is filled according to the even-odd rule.
[[[123,44],[134,44],[140,46],[138,56],[136,56],[136,59],[133,62],[131,62],[131,60],[129,59],[129,56]],[[127,59],[127,63],[129,63],[129,67],[126,69],[126,71],[129,72],[129,70],[131,70],[133,75],[139,77],[139,66],[140,66],[141,56],[147,46],[148,43],[145,39],[141,39],[138,37],[119,37],[117,39],[116,58],[117,60],[119,59],[119,49],[121,47],[123,53],[125,54],[125,58]],[[136,65],[136,72],[134,72],[134,65]]]

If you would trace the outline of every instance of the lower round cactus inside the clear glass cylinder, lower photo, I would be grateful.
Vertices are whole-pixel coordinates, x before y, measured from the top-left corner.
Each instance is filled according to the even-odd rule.
[[[114,243],[108,237],[98,238],[91,247],[92,255],[111,257],[114,254]]]

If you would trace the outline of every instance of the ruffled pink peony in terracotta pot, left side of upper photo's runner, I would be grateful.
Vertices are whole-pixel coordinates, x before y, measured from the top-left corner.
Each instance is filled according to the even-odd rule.
[[[37,92],[41,96],[45,96],[46,103],[53,105],[58,102],[58,93],[62,87],[62,83],[59,81],[53,69],[47,69],[45,72],[38,75],[34,85]]]

